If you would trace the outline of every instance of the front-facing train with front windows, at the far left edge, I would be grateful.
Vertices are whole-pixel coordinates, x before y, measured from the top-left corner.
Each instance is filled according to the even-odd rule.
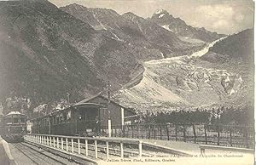
[[[7,142],[21,142],[26,135],[26,115],[10,111],[2,117],[1,135]]]

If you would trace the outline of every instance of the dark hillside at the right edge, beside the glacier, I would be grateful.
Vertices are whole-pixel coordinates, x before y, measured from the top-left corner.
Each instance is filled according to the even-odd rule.
[[[243,83],[243,86],[237,97],[234,98],[234,105],[253,106],[253,45],[253,29],[247,29],[224,38],[224,40],[214,44],[207,54],[201,56],[201,63],[206,62],[209,66],[231,71],[241,76],[239,81]],[[230,83],[221,82],[226,92],[237,85],[237,82],[232,82],[232,80],[233,78],[230,77]]]

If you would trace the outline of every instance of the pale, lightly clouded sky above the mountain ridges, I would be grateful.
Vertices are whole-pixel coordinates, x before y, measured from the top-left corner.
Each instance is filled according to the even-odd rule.
[[[56,6],[77,3],[88,8],[113,9],[119,14],[132,12],[143,18],[157,9],[185,20],[189,26],[205,27],[218,33],[233,34],[253,27],[253,0],[49,0]]]

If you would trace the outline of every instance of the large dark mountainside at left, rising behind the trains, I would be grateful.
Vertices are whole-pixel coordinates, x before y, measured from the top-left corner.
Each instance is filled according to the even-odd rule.
[[[44,2],[1,2],[1,100],[30,98],[33,105],[80,100],[130,80],[135,51]],[[75,26],[74,26],[75,25]]]

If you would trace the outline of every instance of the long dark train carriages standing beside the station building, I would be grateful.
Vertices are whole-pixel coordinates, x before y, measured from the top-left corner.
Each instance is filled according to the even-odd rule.
[[[32,134],[70,136],[97,136],[100,134],[101,116],[106,118],[104,105],[81,103],[43,117],[33,118]]]

